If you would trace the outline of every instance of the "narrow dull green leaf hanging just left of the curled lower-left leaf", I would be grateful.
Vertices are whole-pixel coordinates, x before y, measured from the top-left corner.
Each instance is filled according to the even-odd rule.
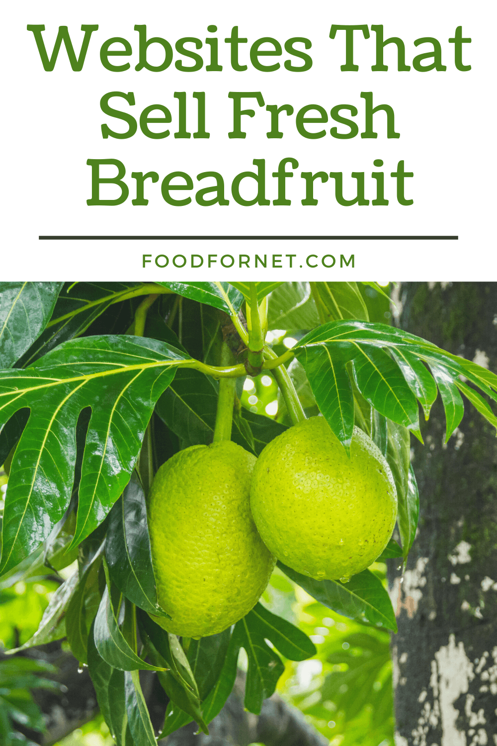
[[[72,654],[80,663],[86,663],[88,632],[100,605],[101,595],[98,589],[98,569],[101,555],[94,558],[83,572],[75,593],[66,611],[66,636]]]

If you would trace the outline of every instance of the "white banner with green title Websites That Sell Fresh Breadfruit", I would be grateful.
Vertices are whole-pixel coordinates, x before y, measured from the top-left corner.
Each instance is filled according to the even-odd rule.
[[[8,4],[2,11],[1,42],[2,276],[497,280],[495,15],[494,4],[454,0],[414,5],[363,0]],[[28,25],[45,25],[45,31],[28,31]],[[79,57],[81,25],[98,25],[89,36],[82,69],[72,70],[62,43],[54,69],[45,71],[36,34],[41,33],[50,58],[59,27],[67,26]],[[146,26],[146,37],[136,25]],[[336,31],[332,40],[332,25],[367,27],[368,39],[361,30],[353,33],[358,71],[341,71],[346,64],[346,31]],[[384,40],[402,40],[405,66],[411,69],[397,69],[402,44],[389,43],[384,47],[387,71],[372,71],[379,63],[379,25]],[[247,41],[225,41],[235,37],[234,27]],[[458,27],[471,43],[449,42],[458,38]],[[145,39],[166,40],[165,45],[149,44],[146,59],[148,66],[160,67],[170,51],[167,69],[136,70],[141,34],[143,54]],[[120,40],[106,46],[115,37]],[[258,43],[264,37],[270,41]],[[307,49],[306,39],[311,43]],[[182,44],[190,56],[178,51]],[[107,54],[106,48],[125,54]],[[310,69],[288,69],[304,66],[304,54],[311,58]],[[129,68],[106,69],[103,60],[107,66]],[[422,72],[434,62],[440,67],[440,61],[445,70]],[[178,69],[194,65],[201,67],[194,72]],[[276,65],[272,72],[257,69]],[[252,117],[241,116],[244,139],[228,136],[235,129],[236,101],[230,92],[259,94],[259,101],[241,100],[241,109],[254,112]],[[208,138],[194,137],[203,131],[198,118],[203,93]],[[106,97],[107,107],[126,120],[102,110]],[[317,108],[301,111],[310,104]],[[361,137],[371,131],[368,108],[384,104],[392,112],[373,114],[377,137]],[[274,107],[284,105],[276,129]],[[146,121],[151,118],[166,121]],[[306,122],[308,118],[320,121]],[[133,128],[136,132],[126,138],[104,138],[102,125],[115,134]],[[299,128],[324,134],[306,137]],[[167,129],[167,137],[150,136]],[[191,137],[174,137],[181,131]],[[282,137],[268,137],[271,131]],[[354,136],[337,137],[344,134]],[[105,166],[87,163],[110,159],[114,163]],[[95,201],[92,170],[101,178],[115,178],[116,161],[125,169],[125,188],[100,184],[96,196],[116,200],[127,189],[127,198],[115,205],[87,204],[92,197]],[[413,175],[402,178],[402,168]],[[278,171],[279,177],[273,175]],[[174,172],[187,176],[168,177]],[[219,176],[206,175],[212,172]],[[246,177],[237,192],[233,182],[243,172],[259,173],[259,184]],[[317,173],[323,178],[312,181],[311,175]],[[152,175],[145,178],[148,174]],[[343,201],[360,195],[362,179],[364,204],[339,204],[337,195]],[[169,189],[168,184],[187,188]],[[200,189],[216,184],[217,193],[199,195]],[[259,204],[238,204],[253,201],[258,189]],[[228,204],[201,204],[216,196]],[[317,204],[302,204],[312,199]],[[148,204],[133,204],[147,200]],[[188,204],[170,204],[181,200]],[[221,239],[226,236],[231,237]]]

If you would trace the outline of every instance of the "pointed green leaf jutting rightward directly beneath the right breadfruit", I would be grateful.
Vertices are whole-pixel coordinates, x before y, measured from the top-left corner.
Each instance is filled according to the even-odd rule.
[[[323,606],[349,619],[397,631],[390,598],[381,580],[370,570],[363,570],[352,575],[348,583],[341,583],[339,580],[314,580],[285,567],[282,562],[277,564],[285,575]]]

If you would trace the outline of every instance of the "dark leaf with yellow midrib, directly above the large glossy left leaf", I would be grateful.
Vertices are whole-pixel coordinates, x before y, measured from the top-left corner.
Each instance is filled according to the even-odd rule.
[[[80,336],[111,304],[144,287],[145,283],[64,283],[50,321],[16,367],[25,368],[62,342]]]

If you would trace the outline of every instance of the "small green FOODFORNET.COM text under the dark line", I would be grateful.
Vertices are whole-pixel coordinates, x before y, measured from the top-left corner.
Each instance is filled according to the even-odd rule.
[[[300,261],[303,263],[300,264]],[[203,257],[201,254],[142,254],[142,268],[148,265],[163,269],[168,266],[174,266],[177,269],[189,267],[199,269],[204,267],[222,266],[224,269],[237,267],[242,269],[303,269],[304,266],[311,269],[325,267],[326,269],[345,268],[355,266],[355,255],[344,254],[308,254],[297,259],[297,254],[207,254]]]

